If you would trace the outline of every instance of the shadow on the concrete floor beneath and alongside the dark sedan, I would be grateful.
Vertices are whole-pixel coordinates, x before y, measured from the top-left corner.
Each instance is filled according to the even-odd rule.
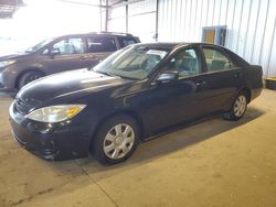
[[[238,121],[223,120],[219,116],[204,119],[189,126],[183,126],[178,131],[160,135],[153,140],[141,142],[131,157],[129,157],[126,162],[112,166],[104,166],[99,164],[93,156],[65,162],[47,162],[46,165],[54,167],[55,170],[64,171],[66,165],[72,165],[72,162],[75,162],[84,174],[88,176],[96,176],[97,179],[102,179],[113,176],[114,173],[141,167],[141,165],[152,162],[156,159],[161,159],[162,156],[178,150],[183,150],[204,140],[212,139],[223,132],[246,124],[254,119],[259,118],[264,113],[264,111],[254,107],[248,107],[245,116]]]

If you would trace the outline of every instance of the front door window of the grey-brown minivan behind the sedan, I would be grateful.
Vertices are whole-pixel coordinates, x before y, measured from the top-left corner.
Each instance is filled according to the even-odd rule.
[[[83,40],[79,39],[64,39],[53,45],[53,48],[59,48],[61,55],[84,53]]]

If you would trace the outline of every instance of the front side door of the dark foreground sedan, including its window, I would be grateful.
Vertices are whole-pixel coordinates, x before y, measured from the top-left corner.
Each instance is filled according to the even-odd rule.
[[[179,78],[170,83],[155,83],[145,105],[147,126],[152,133],[202,115],[201,55],[197,47],[178,51],[162,70],[178,72]]]

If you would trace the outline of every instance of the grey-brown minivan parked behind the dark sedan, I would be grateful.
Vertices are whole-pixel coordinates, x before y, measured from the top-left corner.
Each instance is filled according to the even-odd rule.
[[[0,91],[17,91],[50,74],[93,67],[113,52],[139,42],[131,34],[109,32],[44,40],[23,54],[0,57]]]

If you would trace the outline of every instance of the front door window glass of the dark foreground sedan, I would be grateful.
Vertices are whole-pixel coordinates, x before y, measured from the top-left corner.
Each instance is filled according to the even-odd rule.
[[[198,75],[200,73],[200,58],[193,48],[179,51],[164,68],[178,72],[179,77]]]

